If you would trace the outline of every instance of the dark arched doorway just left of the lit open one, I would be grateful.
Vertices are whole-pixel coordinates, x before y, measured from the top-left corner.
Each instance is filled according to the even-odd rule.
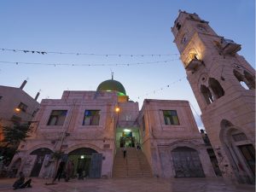
[[[30,177],[38,177],[41,171],[41,168],[44,163],[44,158],[46,154],[52,154],[53,152],[49,148],[38,148],[32,151],[32,155],[37,155],[37,159],[35,160],[35,164],[32,168],[32,172]]]

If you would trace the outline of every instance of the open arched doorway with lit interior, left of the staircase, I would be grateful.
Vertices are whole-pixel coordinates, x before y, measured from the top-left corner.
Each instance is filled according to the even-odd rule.
[[[77,148],[68,154],[68,160],[73,161],[73,174],[80,178],[98,178],[102,175],[102,154],[92,148]]]

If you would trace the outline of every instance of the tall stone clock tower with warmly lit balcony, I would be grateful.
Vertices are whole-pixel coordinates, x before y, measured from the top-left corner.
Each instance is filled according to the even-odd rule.
[[[179,11],[172,27],[187,79],[223,177],[255,178],[255,70],[209,22]]]

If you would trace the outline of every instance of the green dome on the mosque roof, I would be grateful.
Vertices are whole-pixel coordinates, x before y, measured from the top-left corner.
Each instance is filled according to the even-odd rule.
[[[113,79],[103,81],[101,84],[99,84],[97,91],[99,90],[107,90],[107,91],[115,90],[115,91],[118,91],[119,96],[126,96],[125,87],[123,86],[123,84]]]

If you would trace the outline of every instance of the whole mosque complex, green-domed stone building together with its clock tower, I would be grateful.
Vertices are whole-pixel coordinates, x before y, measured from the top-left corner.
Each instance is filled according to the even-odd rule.
[[[172,32],[212,147],[201,137],[188,101],[145,99],[139,110],[112,77],[95,91],[65,90],[61,99],[42,100],[32,135],[20,143],[11,166],[19,165],[27,177],[52,177],[59,156],[72,160],[74,172],[82,170],[84,177],[229,177],[253,183],[253,67],[236,54],[239,44],[218,36],[196,14],[180,11]]]

